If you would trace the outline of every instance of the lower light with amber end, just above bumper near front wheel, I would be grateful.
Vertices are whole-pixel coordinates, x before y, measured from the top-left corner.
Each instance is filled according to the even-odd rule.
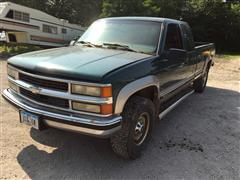
[[[112,104],[95,105],[73,101],[72,109],[77,111],[98,113],[102,115],[112,114]]]

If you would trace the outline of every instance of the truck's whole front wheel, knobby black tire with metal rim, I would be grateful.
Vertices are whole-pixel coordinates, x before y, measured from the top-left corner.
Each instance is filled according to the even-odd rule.
[[[122,129],[111,138],[113,151],[127,159],[136,159],[145,147],[155,121],[151,100],[135,96],[126,104]]]

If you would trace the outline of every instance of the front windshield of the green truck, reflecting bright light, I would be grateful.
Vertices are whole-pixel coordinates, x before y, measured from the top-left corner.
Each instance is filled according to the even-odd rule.
[[[141,20],[98,20],[78,42],[125,45],[137,52],[157,51],[161,23]]]

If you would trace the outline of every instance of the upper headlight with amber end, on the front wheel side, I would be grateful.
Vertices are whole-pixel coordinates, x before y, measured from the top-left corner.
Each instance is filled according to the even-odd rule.
[[[112,87],[93,87],[93,86],[83,86],[72,84],[71,91],[73,94],[81,94],[87,96],[95,97],[111,97],[112,96]]]

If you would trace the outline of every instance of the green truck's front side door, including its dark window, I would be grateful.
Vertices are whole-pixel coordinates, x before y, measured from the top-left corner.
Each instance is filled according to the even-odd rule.
[[[170,93],[189,81],[193,73],[193,64],[189,57],[191,59],[191,53],[185,48],[180,24],[167,24],[161,53],[161,66],[165,67],[165,71],[159,74],[161,91]]]

